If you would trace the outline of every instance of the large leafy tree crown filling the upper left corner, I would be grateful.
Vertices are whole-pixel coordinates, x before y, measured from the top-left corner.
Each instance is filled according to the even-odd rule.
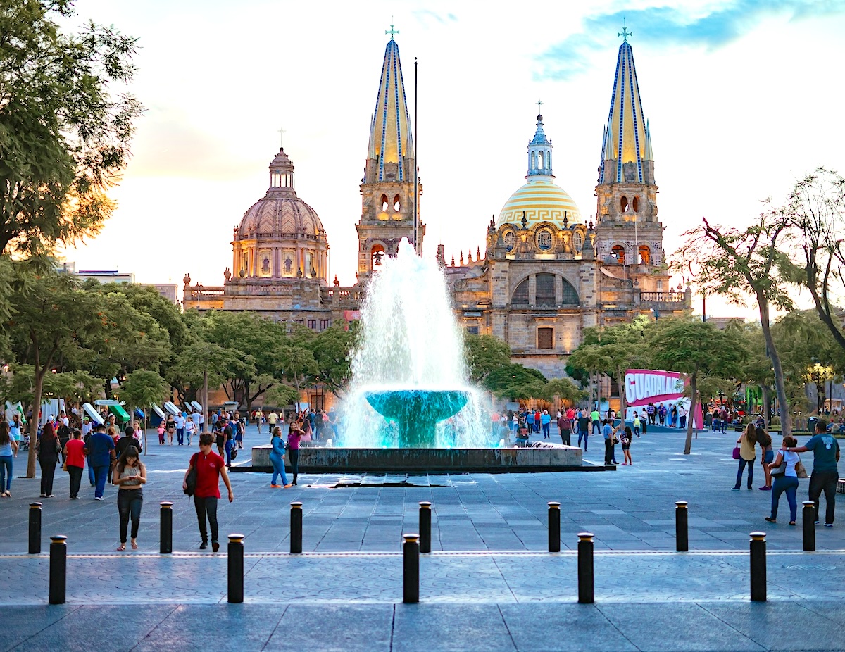
[[[70,0],[0,6],[0,252],[50,253],[95,235],[129,158],[141,106],[136,41],[90,23],[67,34]]]

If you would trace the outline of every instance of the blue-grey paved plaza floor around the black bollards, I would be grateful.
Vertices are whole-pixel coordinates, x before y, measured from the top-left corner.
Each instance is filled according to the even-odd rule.
[[[267,474],[233,472],[217,554],[198,550],[181,490],[192,450],[152,443],[139,551],[114,551],[114,487],[96,502],[84,482],[70,501],[58,470],[56,497],[41,500],[43,551],[50,535],[68,536],[65,606],[45,605],[46,554],[25,554],[38,481],[15,477],[0,501],[0,649],[88,649],[92,634],[97,649],[122,650],[845,649],[845,526],[817,527],[817,551],[801,552],[800,513],[798,528],[786,524],[785,497],[778,523],[763,519],[760,465],[752,491],[731,491],[736,437],[702,432],[683,455],[683,433],[650,430],[633,466],[593,473],[304,474],[271,489]],[[265,439],[251,428],[247,444]],[[587,462],[602,462],[601,444],[591,437]],[[801,481],[799,511],[806,491]],[[170,556],[157,552],[163,500],[174,503]],[[417,531],[423,500],[433,553],[420,562],[421,603],[403,605],[401,535]],[[690,503],[688,553],[674,551],[676,500]],[[303,503],[301,556],[288,554],[292,501]],[[546,552],[548,501],[561,503],[560,553]],[[595,605],[575,603],[585,530],[596,540]],[[769,552],[762,604],[749,600],[754,530]],[[233,532],[246,536],[243,605],[226,603]]]

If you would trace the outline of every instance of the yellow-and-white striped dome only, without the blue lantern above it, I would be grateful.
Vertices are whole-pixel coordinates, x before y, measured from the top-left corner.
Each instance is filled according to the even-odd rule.
[[[563,225],[564,211],[570,225],[583,222],[575,201],[552,179],[549,176],[528,177],[526,184],[504,203],[496,228],[504,224],[521,225],[523,211],[529,227],[540,222]]]

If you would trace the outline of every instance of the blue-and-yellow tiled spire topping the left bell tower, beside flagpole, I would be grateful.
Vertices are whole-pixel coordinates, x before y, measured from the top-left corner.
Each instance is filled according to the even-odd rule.
[[[384,48],[379,95],[375,101],[367,153],[368,159],[377,161],[377,177],[368,181],[409,181],[406,177],[408,170],[413,170],[413,166],[408,166],[407,162],[414,158],[414,143],[405,97],[405,82],[402,79],[399,46],[393,40],[393,35],[399,32],[391,25],[387,33],[390,34],[390,41]],[[385,163],[396,164],[394,178],[389,179],[390,175],[385,175]]]

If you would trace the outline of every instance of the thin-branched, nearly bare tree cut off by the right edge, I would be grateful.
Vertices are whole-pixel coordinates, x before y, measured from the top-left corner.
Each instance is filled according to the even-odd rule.
[[[810,291],[821,322],[845,349],[836,302],[845,289],[845,179],[820,167],[795,184],[779,212],[793,238],[778,267],[788,281]]]

